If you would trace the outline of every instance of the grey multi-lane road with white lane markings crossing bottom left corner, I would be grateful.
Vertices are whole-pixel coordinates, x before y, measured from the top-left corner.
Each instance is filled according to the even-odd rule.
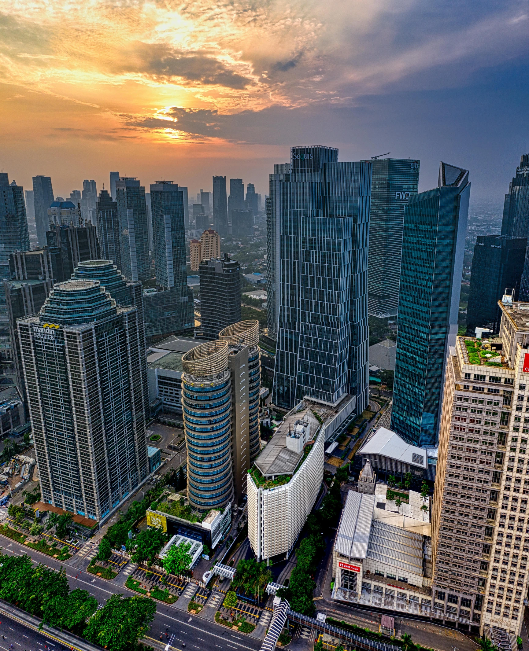
[[[81,588],[88,590],[101,604],[104,604],[112,594],[124,594],[125,596],[137,594],[136,592],[132,592],[132,590],[128,590],[124,585],[115,583],[115,581],[124,578],[121,574],[115,581],[106,581],[87,572],[80,572],[78,568],[56,561],[35,549],[29,549],[27,547],[24,549],[18,542],[14,542],[10,538],[5,538],[1,534],[0,545],[4,547],[2,550],[3,553],[14,555],[27,553],[35,564],[42,563],[55,570],[59,570],[61,566],[64,567],[70,589]],[[0,633],[7,635],[4,631],[4,624],[7,618],[0,615],[0,620],[2,622]],[[8,649],[10,644],[14,645],[16,651],[23,651],[24,649],[27,651],[30,649],[31,651],[36,651],[36,649],[43,649],[43,644],[51,645],[50,648],[53,651],[59,651],[61,648],[57,642],[54,644],[51,642],[48,643],[45,635],[33,633],[33,631],[25,629],[20,624],[17,626],[13,624],[8,625],[7,630],[12,635],[12,639],[8,643],[0,639],[0,649]],[[259,639],[237,633],[237,631],[227,629],[201,616],[190,615],[187,610],[185,612],[181,611],[178,608],[178,602],[175,605],[156,602],[156,616],[152,622],[149,637],[152,641],[157,640],[160,643],[160,635],[162,635],[163,643],[165,644],[166,631],[170,635],[175,635],[172,646],[181,649],[183,648],[182,643],[185,643],[186,651],[188,649],[189,651],[219,651],[220,649],[223,651],[257,651],[261,647],[261,640]],[[24,635],[27,635],[27,638]],[[18,639],[15,640],[14,637],[18,637]],[[30,641],[33,646],[31,646]],[[39,641],[42,644],[38,645]],[[152,641],[150,642],[151,644]],[[158,646],[158,648],[160,647]]]

